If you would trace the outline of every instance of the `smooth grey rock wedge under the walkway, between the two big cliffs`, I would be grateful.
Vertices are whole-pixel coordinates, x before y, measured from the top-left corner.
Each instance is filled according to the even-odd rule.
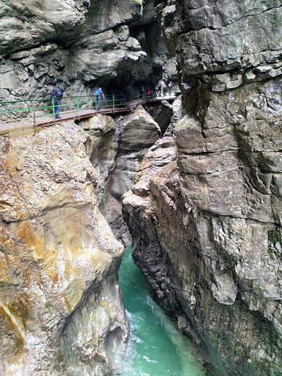
[[[127,244],[129,234],[121,212],[121,196],[132,188],[140,163],[161,136],[159,125],[142,106],[115,120],[94,116],[80,121],[87,131],[90,161],[98,172],[99,208],[116,238]]]

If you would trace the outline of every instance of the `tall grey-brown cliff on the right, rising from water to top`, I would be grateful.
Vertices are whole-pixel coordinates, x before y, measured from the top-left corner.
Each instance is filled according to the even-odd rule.
[[[123,198],[135,262],[217,374],[280,375],[281,2],[157,9],[183,119]]]

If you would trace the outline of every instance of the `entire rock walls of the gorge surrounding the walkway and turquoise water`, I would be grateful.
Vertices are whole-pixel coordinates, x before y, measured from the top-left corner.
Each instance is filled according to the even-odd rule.
[[[1,100],[176,75],[181,90],[1,136],[1,375],[112,372],[130,240],[207,374],[281,375],[281,12],[279,0],[1,1]]]

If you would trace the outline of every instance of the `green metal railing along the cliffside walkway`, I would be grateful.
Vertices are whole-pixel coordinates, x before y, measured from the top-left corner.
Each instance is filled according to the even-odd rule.
[[[154,99],[169,99],[170,97],[175,96],[171,94],[153,97],[153,95],[147,95],[147,93],[137,93],[135,97],[129,99],[124,95],[107,95],[103,99],[98,99],[94,95],[68,96],[61,99],[61,104],[56,104],[54,97],[0,102],[0,124],[29,119],[36,126],[37,119],[42,119],[44,116],[49,116],[53,121],[56,121],[58,110],[60,115],[74,113],[78,118],[80,114],[83,115],[84,113],[114,114],[129,111],[138,104],[144,104]]]

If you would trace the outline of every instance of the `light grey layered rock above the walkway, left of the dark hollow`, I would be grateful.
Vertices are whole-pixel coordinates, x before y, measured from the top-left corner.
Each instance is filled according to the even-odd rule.
[[[128,0],[118,6],[113,1],[2,1],[1,97],[42,97],[58,84],[85,94],[91,80],[115,75],[125,59],[146,56],[128,26],[118,29],[141,17],[140,4]]]

